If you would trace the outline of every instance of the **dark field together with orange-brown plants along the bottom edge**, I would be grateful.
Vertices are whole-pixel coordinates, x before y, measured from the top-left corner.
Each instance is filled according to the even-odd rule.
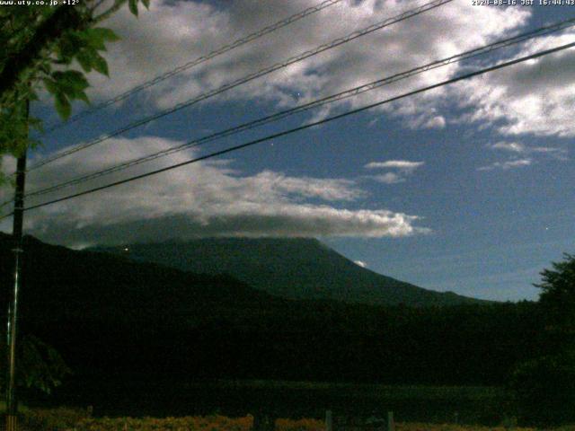
[[[94,418],[86,418],[88,403],[51,398],[53,406],[83,409],[24,408],[26,429],[247,431],[252,415],[264,414],[280,418],[277,431],[320,431],[326,410],[332,410],[334,419],[385,418],[393,411],[397,431],[486,431],[515,425],[511,394],[494,387],[252,380],[179,385],[110,382],[103,389],[92,392]],[[575,427],[562,428],[567,430]]]

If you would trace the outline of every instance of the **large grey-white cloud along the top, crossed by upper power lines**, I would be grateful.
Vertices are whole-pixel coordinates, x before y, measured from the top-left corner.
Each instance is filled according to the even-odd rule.
[[[91,76],[91,96],[98,100],[126,91],[316,3],[270,0],[261,7],[256,0],[153,1],[150,11],[140,13],[138,19],[124,8],[106,22],[122,37],[107,56],[112,79]],[[142,98],[142,109],[171,107],[413,7],[407,0],[343,1],[155,85]],[[274,101],[280,106],[311,101],[476,48],[522,27],[529,16],[528,8],[475,7],[468,0],[456,0],[242,85],[219,100]],[[456,74],[459,67],[438,68],[366,92],[318,115],[325,116],[337,106],[357,107],[435,84]],[[407,119],[412,128],[443,128],[446,119],[438,113],[438,101],[446,94],[438,89],[381,110]]]

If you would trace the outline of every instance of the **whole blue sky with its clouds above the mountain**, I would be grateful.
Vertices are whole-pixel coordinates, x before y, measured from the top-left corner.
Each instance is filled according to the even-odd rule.
[[[120,13],[110,25],[124,39],[111,47],[111,79],[93,77],[93,100],[314,4],[264,3],[155,3],[137,21]],[[44,149],[32,158],[89,141],[415,5],[341,2],[45,137]],[[575,7],[511,9],[456,0],[425,15],[156,120],[75,159],[53,163],[48,171],[31,174],[30,189],[575,16]],[[575,32],[564,31],[481,61],[489,64],[573,40]],[[288,119],[157,163],[178,162],[296,127],[447,79],[460,70],[450,66],[314,117]],[[571,49],[228,154],[219,164],[182,168],[74,204],[31,212],[28,229],[49,242],[76,247],[202,234],[309,235],[367,268],[418,286],[488,299],[535,299],[537,290],[531,284],[539,280],[538,272],[574,248],[574,103]],[[54,118],[49,105],[33,109],[43,118]],[[190,231],[171,230],[172,216],[189,217]],[[139,220],[150,221],[149,232],[127,228]]]

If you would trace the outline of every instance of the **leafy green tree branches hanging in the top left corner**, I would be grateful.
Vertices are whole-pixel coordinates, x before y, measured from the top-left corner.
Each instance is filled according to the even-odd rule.
[[[29,139],[28,129],[41,131],[41,121],[28,118],[24,106],[38,99],[41,88],[53,96],[62,119],[70,116],[72,101],[89,103],[85,74],[95,70],[108,75],[102,52],[106,42],[119,40],[98,24],[126,3],[137,15],[138,1],[59,0],[50,7],[14,4],[0,8],[0,157],[17,156],[38,144]],[[147,8],[149,0],[141,3]]]

